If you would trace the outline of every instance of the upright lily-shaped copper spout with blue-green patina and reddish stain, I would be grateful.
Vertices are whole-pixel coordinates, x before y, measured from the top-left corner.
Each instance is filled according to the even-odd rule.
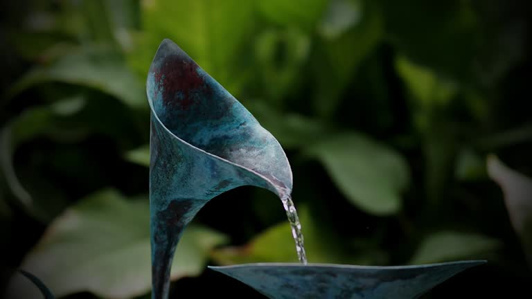
[[[146,88],[152,298],[167,298],[175,247],[197,211],[242,185],[286,197],[292,171],[272,134],[169,39],[155,54]]]

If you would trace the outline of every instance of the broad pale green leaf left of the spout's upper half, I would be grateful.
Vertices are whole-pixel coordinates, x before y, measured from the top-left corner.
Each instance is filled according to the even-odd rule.
[[[71,51],[53,62],[37,66],[10,90],[10,96],[36,84],[64,82],[108,93],[131,107],[148,107],[145,90],[125,62],[112,51]]]

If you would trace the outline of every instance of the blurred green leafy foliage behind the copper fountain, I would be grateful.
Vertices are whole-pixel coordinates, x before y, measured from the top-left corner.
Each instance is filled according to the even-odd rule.
[[[513,230],[486,156],[532,175],[529,1],[17,2],[0,21],[3,282],[22,264],[60,296],[148,293],[143,82],[170,38],[286,149],[310,262],[488,258],[427,298],[528,291],[532,231]],[[258,297],[206,262],[296,259],[264,190],[195,222],[172,278],[197,277],[174,296]]]

